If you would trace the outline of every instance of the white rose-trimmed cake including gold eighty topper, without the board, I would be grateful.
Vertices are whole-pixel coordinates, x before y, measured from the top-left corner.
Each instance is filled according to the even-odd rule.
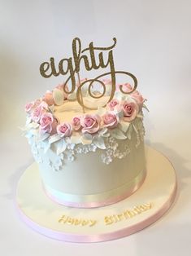
[[[42,186],[63,205],[110,205],[130,196],[145,179],[145,99],[136,90],[132,73],[115,71],[113,40],[109,47],[94,47],[90,42],[81,50],[80,39],[74,38],[73,62],[72,58],[60,60],[59,72],[52,57],[40,66],[42,77],[68,73],[66,82],[25,108],[25,135]],[[101,51],[99,63],[96,51]],[[108,53],[107,60],[103,51]],[[88,71],[109,67],[110,72],[80,80],[82,61]],[[130,78],[131,84],[116,83],[117,75]]]

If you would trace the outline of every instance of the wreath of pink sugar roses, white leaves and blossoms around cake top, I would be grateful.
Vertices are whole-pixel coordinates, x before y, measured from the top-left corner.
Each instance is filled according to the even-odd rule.
[[[132,90],[128,83],[116,86],[115,96],[106,104],[106,108],[98,108],[93,114],[84,113],[73,117],[70,122],[60,123],[54,117],[54,105],[75,99],[75,94],[64,93],[63,85],[47,91],[41,99],[26,104],[24,133],[32,145],[36,161],[43,161],[41,150],[45,153],[50,150],[55,154],[54,162],[50,162],[50,165],[54,170],[59,170],[64,161],[73,161],[78,153],[101,150],[102,162],[109,164],[115,157],[128,155],[128,143],[132,136],[136,137],[138,147],[145,135],[142,123],[145,99],[137,90],[128,95],[123,94],[119,90],[120,86],[124,92]],[[125,141],[122,151],[118,148],[118,140],[121,139]]]

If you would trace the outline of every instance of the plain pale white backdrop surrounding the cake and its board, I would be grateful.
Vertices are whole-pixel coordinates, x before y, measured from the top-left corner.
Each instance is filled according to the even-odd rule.
[[[191,2],[0,0],[0,254],[190,255],[191,254]],[[15,212],[15,188],[33,162],[18,126],[24,104],[52,89],[62,77],[41,77],[39,65],[83,46],[111,45],[115,66],[138,78],[148,99],[146,142],[167,155],[179,189],[174,207],[142,232],[92,245],[54,241],[33,232]],[[82,72],[83,77],[83,72]]]

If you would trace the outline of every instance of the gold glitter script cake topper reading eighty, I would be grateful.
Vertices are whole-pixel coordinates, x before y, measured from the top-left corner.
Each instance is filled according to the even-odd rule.
[[[72,94],[76,88],[76,99],[78,103],[81,105],[81,107],[89,108],[84,104],[83,96],[82,96],[82,87],[85,86],[86,83],[89,83],[88,86],[88,93],[89,96],[93,99],[100,99],[102,96],[106,94],[106,84],[100,80],[102,77],[111,76],[111,94],[109,99],[107,100],[107,103],[113,99],[115,95],[115,87],[116,87],[116,74],[124,74],[128,77],[131,77],[133,80],[134,85],[132,86],[131,91],[124,91],[123,86],[119,86],[119,90],[124,94],[130,94],[132,91],[136,90],[137,88],[137,78],[132,74],[128,73],[126,71],[116,71],[115,70],[115,64],[113,59],[113,49],[116,45],[116,38],[113,38],[113,44],[108,47],[97,47],[93,46],[93,42],[89,43],[89,47],[85,49],[81,49],[81,42],[80,38],[74,38],[72,41],[72,55],[73,58],[64,58],[59,61],[58,68],[55,67],[55,61],[53,57],[50,57],[50,61],[43,62],[40,65],[40,73],[42,77],[58,77],[59,75],[68,76],[66,82],[64,83],[63,90],[68,95]],[[96,53],[98,52],[98,60],[96,60]],[[89,53],[89,56],[86,55],[86,53]],[[104,54],[107,58],[104,58]],[[105,60],[106,59],[106,60]],[[84,61],[85,69],[87,71],[91,71],[92,69],[97,70],[98,68],[110,68],[110,72],[103,73],[99,75],[98,77],[95,77],[93,79],[85,80],[84,82],[80,82],[80,65],[81,62]],[[76,86],[76,75],[78,79],[78,86]],[[71,81],[72,86],[71,89],[68,89],[67,83]],[[102,86],[102,93],[99,94],[93,94],[93,83],[97,82]]]

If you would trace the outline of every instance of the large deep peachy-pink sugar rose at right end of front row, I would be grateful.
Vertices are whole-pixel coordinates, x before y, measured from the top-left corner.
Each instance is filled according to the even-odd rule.
[[[137,103],[124,101],[121,105],[124,113],[124,121],[132,121],[137,117],[139,111]]]

